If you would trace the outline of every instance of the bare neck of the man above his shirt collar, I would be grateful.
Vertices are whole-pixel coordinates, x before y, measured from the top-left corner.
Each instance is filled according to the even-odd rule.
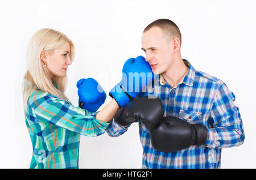
[[[182,58],[178,58],[170,66],[170,68],[162,73],[162,76],[171,87],[176,87],[177,84],[184,78],[188,72],[188,67],[184,64]]]

